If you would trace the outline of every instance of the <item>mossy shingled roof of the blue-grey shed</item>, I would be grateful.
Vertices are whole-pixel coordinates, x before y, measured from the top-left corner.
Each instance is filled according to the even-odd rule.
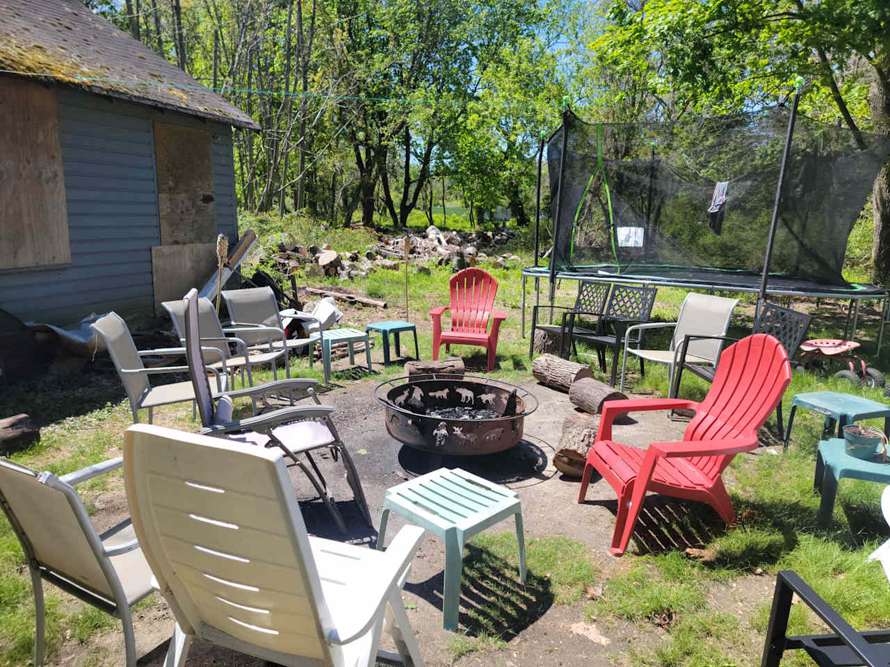
[[[259,129],[241,109],[79,0],[0,0],[0,69]]]

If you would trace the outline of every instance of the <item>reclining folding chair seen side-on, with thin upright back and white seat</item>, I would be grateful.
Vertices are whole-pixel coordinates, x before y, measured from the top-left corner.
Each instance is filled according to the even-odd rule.
[[[322,406],[318,394],[315,392],[317,380],[308,378],[293,378],[269,382],[251,389],[229,391],[219,398],[214,398],[210,393],[210,384],[207,374],[202,372],[201,357],[198,346],[195,344],[198,338],[198,290],[192,289],[182,299],[182,310],[185,314],[185,348],[186,358],[189,362],[189,374],[194,386],[195,396],[198,397],[198,412],[201,422],[204,424],[204,433],[242,442],[254,443],[258,446],[277,446],[295,464],[303,470],[303,474],[312,482],[315,491],[320,495],[332,518],[336,522],[340,532],[346,532],[346,524],[337,510],[334,498],[328,491],[328,483],[321,474],[318,465],[312,458],[312,451],[328,448],[331,457],[336,461],[343,459],[346,469],[346,481],[352,488],[355,502],[359,506],[362,517],[368,526],[371,526],[371,515],[368,511],[368,502],[361,488],[359,472],[355,469],[349,451],[340,439],[339,434],[331,420],[333,407]],[[248,397],[254,401],[256,412],[256,399],[267,396],[279,396],[286,391],[305,390],[314,400],[314,406],[289,406],[274,410],[271,413],[255,414],[253,417],[239,421],[231,421],[231,398]],[[304,454],[312,465],[315,475],[309,470],[297,454]],[[318,477],[316,477],[318,476]]]

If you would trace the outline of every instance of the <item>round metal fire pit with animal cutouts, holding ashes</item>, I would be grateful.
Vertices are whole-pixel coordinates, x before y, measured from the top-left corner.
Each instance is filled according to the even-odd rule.
[[[522,422],[538,399],[509,382],[472,375],[414,375],[378,385],[386,430],[433,454],[494,454],[522,439]]]

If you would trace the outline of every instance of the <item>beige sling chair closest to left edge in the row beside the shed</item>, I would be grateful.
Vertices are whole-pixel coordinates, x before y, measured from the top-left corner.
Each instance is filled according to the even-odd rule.
[[[148,409],[149,423],[151,423],[154,417],[153,408],[195,400],[195,390],[192,388],[190,381],[172,382],[157,387],[152,387],[151,382],[149,382],[149,375],[185,373],[189,370],[189,366],[154,366],[146,368],[142,365],[142,357],[148,355],[182,355],[185,354],[184,347],[136,350],[136,344],[133,342],[133,336],[130,335],[129,327],[114,312],[100,317],[90,327],[101,335],[105,341],[111,361],[117,369],[117,374],[120,375],[120,381],[124,383],[126,397],[130,399],[130,409],[133,410],[134,423],[139,423],[139,410],[141,408]],[[223,353],[214,348],[202,348],[202,350],[204,350],[207,358],[219,359],[216,366],[223,370],[223,373],[220,374],[215,368],[211,369],[211,372],[216,377],[216,391],[214,391],[214,394],[217,394],[225,388],[226,366]],[[194,406],[192,408],[192,413],[194,414]]]

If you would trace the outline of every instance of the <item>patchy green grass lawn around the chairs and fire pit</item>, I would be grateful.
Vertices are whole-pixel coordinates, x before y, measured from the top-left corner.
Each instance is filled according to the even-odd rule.
[[[367,229],[329,230],[319,225],[297,222],[254,221],[261,236],[292,231],[300,243],[329,242],[335,250],[361,250],[376,241]],[[242,222],[242,228],[247,224]],[[488,249],[485,252],[489,252]],[[508,314],[498,345],[495,376],[508,382],[528,382],[530,361],[528,338],[520,334],[522,304],[522,263],[530,263],[530,237],[521,234],[497,253],[516,253],[522,262],[506,269],[489,269],[500,287],[496,307]],[[494,254],[494,253],[490,253]],[[430,275],[409,271],[409,313],[417,323],[420,354],[430,358],[432,328],[427,311],[447,302],[448,268],[431,267]],[[406,318],[405,274],[380,269],[374,274],[346,284],[328,279],[312,285],[345,286],[376,299],[388,301],[387,309],[349,308],[343,324],[363,328],[370,321]],[[301,277],[298,283],[308,284]],[[574,301],[576,285],[563,281],[557,302]],[[676,317],[684,292],[659,289],[653,318],[669,321]],[[534,301],[533,293],[528,295]],[[542,297],[543,298],[543,297]],[[750,330],[753,297],[740,296],[731,334]],[[795,308],[813,312],[810,337],[837,336],[843,328],[845,312],[837,303],[796,300]],[[860,319],[859,340],[863,354],[872,358],[878,315],[866,310]],[[377,338],[379,345],[379,338]],[[651,336],[647,344],[667,346],[667,338]],[[481,349],[457,349],[474,369],[485,366]],[[584,350],[581,350],[582,352]],[[890,369],[882,356],[872,365]],[[657,365],[647,366],[644,378],[635,360],[630,368],[629,390],[643,395],[667,395],[667,374]],[[836,369],[834,369],[836,370]],[[598,377],[604,379],[598,369]],[[320,364],[310,369],[304,359],[293,361],[292,373],[321,379]],[[378,377],[395,377],[401,366],[382,370]],[[335,374],[345,384],[351,372]],[[271,379],[258,374],[256,382]],[[708,386],[692,374],[684,374],[681,395],[704,396]],[[882,399],[880,390],[854,388],[828,375],[795,374],[785,398],[785,414],[794,394],[812,390],[848,391],[868,398]],[[7,387],[0,394],[0,414],[28,412],[41,422],[39,445],[13,454],[18,462],[62,474],[117,455],[120,434],[131,422],[130,411],[117,378],[107,374],[81,374],[64,380],[34,380]],[[247,406],[239,406],[241,412]],[[156,423],[182,430],[198,430],[191,420],[190,406],[168,406],[158,410]],[[876,424],[882,426],[882,424]],[[551,434],[552,435],[552,434]],[[781,440],[773,419],[761,432],[767,447],[758,455],[736,457],[724,474],[737,515],[737,526],[720,528],[708,537],[713,558],[697,562],[678,550],[635,552],[634,542],[622,559],[600,555],[610,567],[597,564],[588,550],[566,535],[553,535],[529,542],[529,584],[522,587],[515,575],[514,536],[484,533],[468,546],[465,578],[479,587],[494,591],[490,602],[479,607],[465,631],[455,635],[450,647],[454,660],[485,648],[508,647],[517,627],[526,627],[551,604],[578,606],[589,619],[608,628],[611,623],[630,623],[641,634],[660,634],[653,642],[643,642],[630,650],[616,648],[615,664],[664,665],[755,665],[762,647],[772,597],[770,575],[780,569],[794,569],[857,628],[878,628],[890,618],[890,587],[878,564],[866,557],[886,539],[887,526],[878,510],[881,486],[845,480],[837,495],[834,517],[828,530],[815,525],[819,496],[813,493],[813,458],[821,438],[821,417],[801,411],[797,415],[791,445],[782,454]],[[551,438],[554,442],[556,436]],[[88,507],[94,508],[103,492],[120,492],[122,480],[115,473],[99,478],[80,491]],[[709,510],[692,505],[690,520],[707,518]],[[5,521],[0,521],[0,664],[28,664],[32,650],[33,604],[27,566],[18,542]],[[508,573],[508,575],[505,575]],[[603,596],[584,596],[584,583],[603,584]],[[762,593],[745,608],[725,603],[719,591],[733,587],[755,587]],[[150,600],[147,603],[152,604]],[[58,657],[63,643],[82,645],[83,654],[94,664],[110,664],[108,655],[94,648],[103,634],[117,632],[118,624],[108,616],[72,601],[69,596],[51,593],[47,600],[47,636],[50,655]],[[518,611],[517,611],[518,610]],[[803,605],[794,607],[790,631],[815,631],[819,624]],[[422,644],[423,647],[423,644]],[[53,653],[55,652],[55,653]],[[86,661],[86,658],[83,658]],[[807,663],[802,655],[789,653],[785,663]],[[85,662],[80,662],[85,663]]]

